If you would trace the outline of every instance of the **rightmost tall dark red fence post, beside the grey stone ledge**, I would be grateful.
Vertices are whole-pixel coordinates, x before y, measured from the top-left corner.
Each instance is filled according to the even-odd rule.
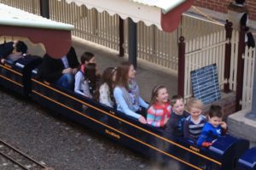
[[[242,54],[245,51],[245,33],[246,27],[241,26],[239,31],[238,56],[237,56],[237,74],[236,74],[236,111],[241,110],[240,101],[242,98],[244,59]]]

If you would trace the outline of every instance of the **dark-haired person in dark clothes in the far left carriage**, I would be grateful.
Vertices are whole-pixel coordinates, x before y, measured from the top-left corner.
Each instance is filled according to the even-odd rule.
[[[26,56],[27,46],[25,42],[13,41],[0,44],[0,57],[1,63],[4,63],[5,59],[15,63],[18,59]]]

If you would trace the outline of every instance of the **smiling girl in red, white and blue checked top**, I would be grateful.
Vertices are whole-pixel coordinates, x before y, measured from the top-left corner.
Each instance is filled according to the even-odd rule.
[[[171,115],[172,106],[168,101],[169,94],[164,85],[154,87],[150,106],[148,108],[147,122],[154,127],[165,127]]]

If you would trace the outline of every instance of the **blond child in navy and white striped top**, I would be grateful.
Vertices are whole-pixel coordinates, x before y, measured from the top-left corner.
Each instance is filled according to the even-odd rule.
[[[187,111],[190,115],[184,122],[184,138],[196,144],[201,134],[202,128],[205,126],[207,119],[201,115],[203,104],[200,99],[191,98],[187,104]]]

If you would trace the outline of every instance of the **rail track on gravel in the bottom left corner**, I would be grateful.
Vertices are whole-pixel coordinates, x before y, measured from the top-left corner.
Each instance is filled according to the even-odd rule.
[[[15,147],[7,144],[0,139],[0,155],[9,161],[12,161],[16,167],[25,170],[49,170],[50,168],[45,167],[42,163],[35,161],[30,156],[26,156],[20,150],[15,149]]]

